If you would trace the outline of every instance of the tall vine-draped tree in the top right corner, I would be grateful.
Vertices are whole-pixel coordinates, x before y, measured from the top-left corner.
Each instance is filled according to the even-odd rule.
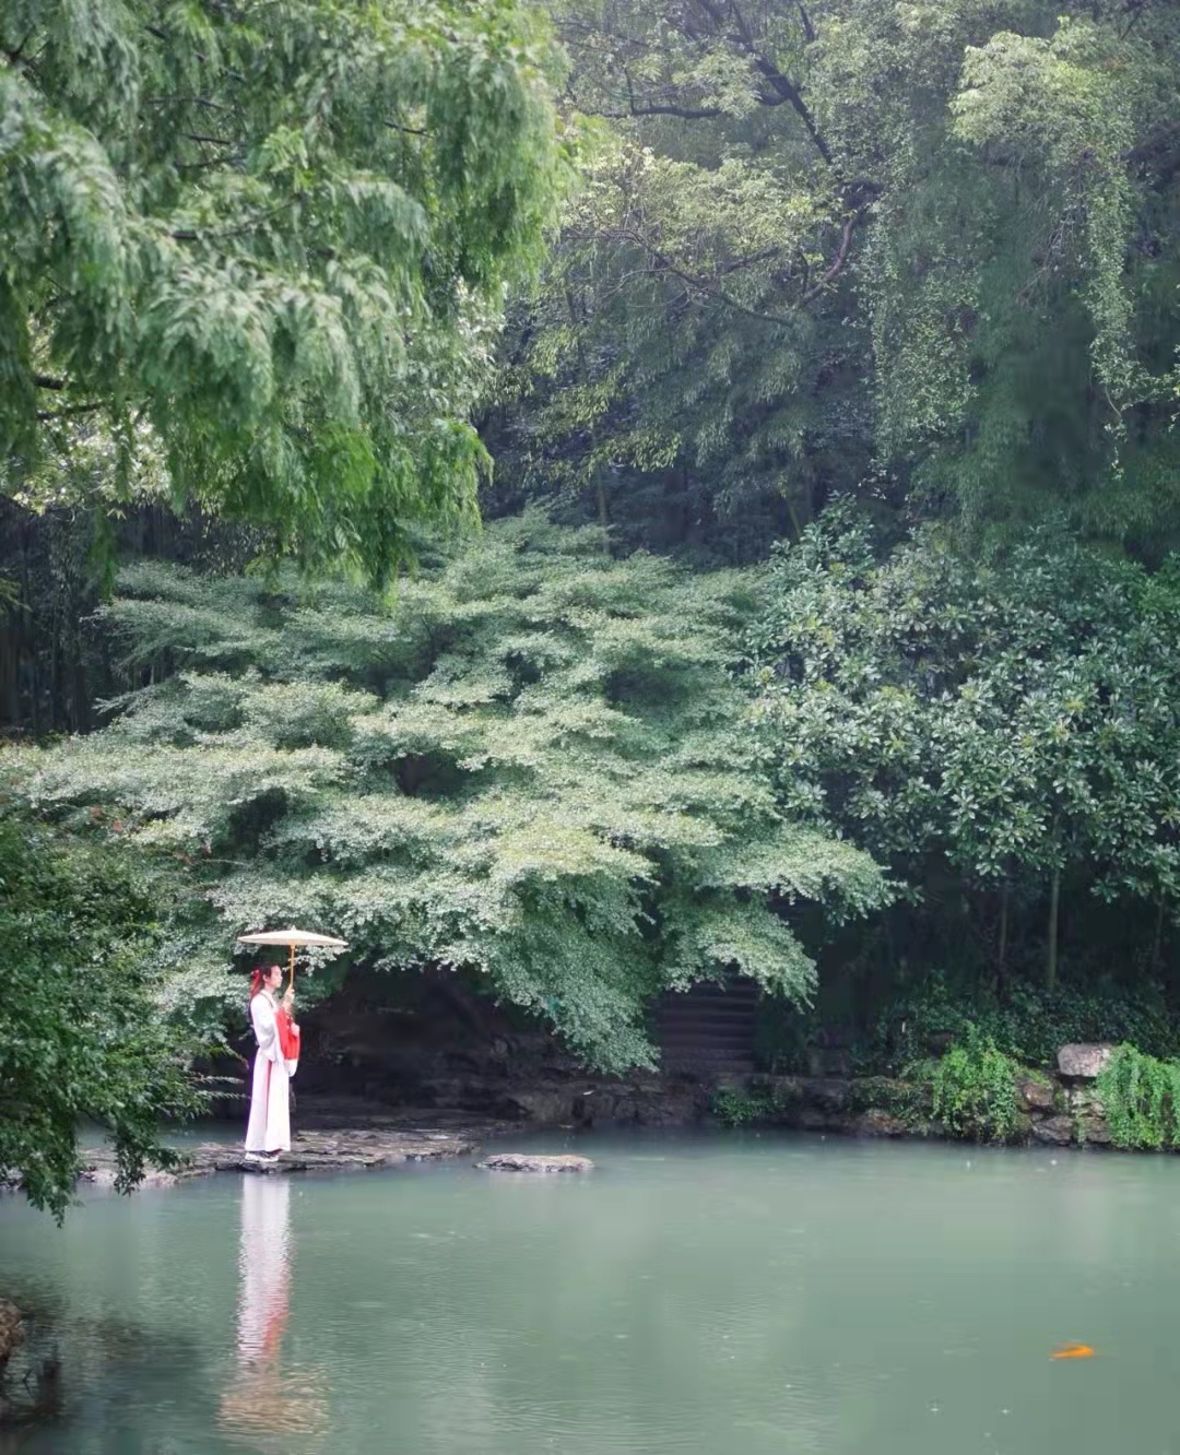
[[[976,517],[1056,505],[1090,534],[1174,540],[1180,15],[1122,0],[857,10],[832,35],[831,74],[901,81],[856,150],[892,153],[863,269],[879,451]],[[925,154],[906,144],[922,125]]]

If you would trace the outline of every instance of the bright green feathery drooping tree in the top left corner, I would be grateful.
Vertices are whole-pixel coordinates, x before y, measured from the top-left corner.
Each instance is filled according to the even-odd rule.
[[[514,0],[6,4],[6,487],[166,493],[375,578],[471,519],[553,63]]]

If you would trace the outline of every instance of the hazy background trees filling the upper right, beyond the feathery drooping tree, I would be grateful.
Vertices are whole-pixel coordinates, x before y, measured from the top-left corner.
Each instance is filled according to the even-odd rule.
[[[729,556],[853,487],[1177,538],[1174,4],[551,9],[610,129],[512,335],[514,482]]]

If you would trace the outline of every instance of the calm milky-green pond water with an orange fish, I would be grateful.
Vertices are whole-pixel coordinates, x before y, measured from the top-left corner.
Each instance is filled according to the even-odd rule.
[[[1180,1455],[1180,1158],[576,1149],[6,1199],[64,1368],[22,1455]]]

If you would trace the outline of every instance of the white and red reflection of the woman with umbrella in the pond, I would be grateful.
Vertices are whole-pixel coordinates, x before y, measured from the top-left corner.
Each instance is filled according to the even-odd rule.
[[[220,1424],[259,1449],[327,1430],[323,1369],[282,1366],[282,1334],[291,1308],[291,1184],[285,1177],[246,1177],[239,1244],[237,1362],[221,1395]]]

